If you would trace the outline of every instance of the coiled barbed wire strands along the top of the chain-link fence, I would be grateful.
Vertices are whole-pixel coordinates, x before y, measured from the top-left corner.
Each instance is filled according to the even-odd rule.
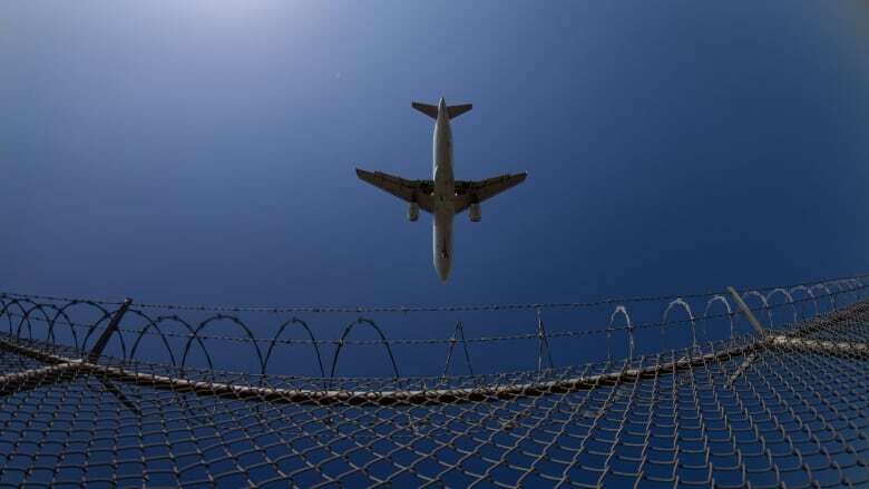
[[[838,285],[838,286],[837,286]],[[837,306],[837,300],[841,296],[850,296],[852,301],[858,300],[858,295],[860,293],[863,293],[867,290],[867,285],[860,282],[857,278],[834,278],[834,280],[828,280],[823,281],[817,284],[797,284],[797,285],[789,285],[789,286],[781,286],[781,287],[773,287],[768,288],[767,294],[760,293],[755,290],[748,290],[743,291],[740,295],[745,297],[746,300],[755,299],[759,301],[759,303],[755,303],[753,307],[750,307],[753,314],[761,314],[761,316],[765,316],[764,320],[769,322],[769,326],[773,327],[773,314],[777,311],[787,310],[790,309],[792,313],[792,320],[797,321],[798,316],[808,317],[805,314],[804,306],[807,304],[813,305],[814,315],[821,314],[821,302],[828,302],[827,305],[828,309],[836,309]],[[797,293],[802,291],[803,295],[797,296]],[[816,291],[816,292],[813,292]],[[781,301],[774,302],[773,297],[774,295],[780,294]],[[705,307],[703,310],[703,314],[699,315],[695,311],[692,310],[692,306],[686,301],[696,299],[703,299],[705,300]],[[641,302],[648,302],[651,301],[651,297],[644,297],[641,299]],[[721,302],[723,304],[723,311],[719,313],[711,314],[712,306],[716,303]],[[123,304],[123,303],[121,303]],[[590,303],[589,303],[590,304]],[[685,331],[686,333],[690,332],[690,344],[697,345],[699,341],[709,341],[709,331],[705,326],[706,323],[714,322],[714,321],[726,321],[730,323],[730,331],[729,335],[731,338],[735,334],[735,319],[738,317],[738,312],[734,310],[733,305],[730,302],[730,299],[728,295],[724,294],[716,294],[716,295],[709,295],[709,294],[683,294],[680,296],[675,296],[675,299],[670,300],[670,296],[667,296],[667,300],[660,300],[660,304],[663,311],[663,319],[658,320],[643,320],[643,321],[636,321],[636,319],[631,317],[631,314],[628,312],[627,305],[631,305],[632,303],[626,304],[618,304],[616,305],[614,302],[611,303],[611,301],[601,301],[596,302],[594,304],[604,304],[608,306],[615,306],[615,311],[609,316],[609,324],[606,326],[597,326],[597,327],[587,327],[587,324],[589,324],[588,320],[582,320],[582,319],[575,319],[572,320],[576,325],[586,325],[586,327],[582,329],[569,329],[569,330],[547,330],[544,327],[541,320],[543,315],[541,313],[545,310],[537,309],[537,322],[534,327],[534,331],[529,331],[526,333],[512,333],[512,334],[487,334],[487,335],[478,335],[478,336],[468,336],[462,331],[461,338],[457,339],[455,338],[455,333],[451,336],[448,336],[445,334],[445,336],[440,338],[389,338],[388,334],[385,334],[385,331],[383,330],[382,325],[379,324],[379,322],[374,321],[371,317],[365,317],[363,315],[359,315],[355,320],[349,322],[343,327],[343,333],[340,335],[340,338],[316,338],[318,334],[314,333],[314,330],[309,326],[309,324],[300,319],[299,316],[294,315],[293,317],[289,320],[281,320],[281,324],[276,330],[273,330],[268,338],[263,338],[262,335],[257,335],[257,333],[254,332],[254,330],[247,324],[247,320],[243,319],[242,315],[228,315],[223,312],[205,316],[205,317],[183,317],[178,315],[178,311],[169,310],[168,312],[175,313],[172,315],[160,315],[156,317],[149,316],[145,311],[149,307],[141,307],[141,305],[138,305],[137,307],[130,309],[127,313],[127,317],[124,319],[124,321],[119,324],[116,324],[111,327],[114,327],[114,331],[117,331],[119,334],[119,345],[120,345],[120,353],[124,358],[127,358],[131,360],[137,352],[140,352],[139,344],[141,343],[141,340],[144,338],[158,338],[162,342],[163,346],[165,348],[166,352],[169,355],[169,359],[173,363],[176,362],[176,360],[180,361],[182,365],[187,364],[188,355],[192,353],[192,348],[196,346],[197,351],[201,351],[204,356],[207,365],[209,368],[214,368],[212,354],[209,353],[208,346],[211,343],[206,342],[235,342],[240,344],[248,344],[252,346],[252,352],[254,353],[255,358],[257,359],[262,373],[266,373],[266,368],[270,365],[270,359],[272,358],[272,352],[275,346],[277,345],[310,345],[313,348],[313,351],[315,353],[315,356],[319,362],[319,366],[321,371],[324,371],[323,362],[322,362],[322,352],[320,351],[321,346],[331,346],[334,348],[334,356],[332,359],[332,371],[334,371],[335,365],[339,362],[340,353],[344,349],[344,346],[382,346],[384,348],[384,352],[388,355],[389,362],[392,364],[393,370],[396,373],[399,372],[398,363],[394,358],[394,353],[392,351],[393,348],[398,346],[436,346],[436,345],[450,345],[450,353],[452,351],[452,345],[458,343],[461,343],[465,345],[467,351],[467,345],[469,344],[486,344],[486,343],[495,343],[495,342],[517,342],[517,341],[534,341],[537,343],[537,355],[538,355],[538,369],[543,369],[543,355],[547,356],[547,360],[549,364],[553,364],[551,360],[551,350],[548,345],[549,340],[570,340],[570,339],[582,339],[582,338],[590,338],[590,336],[604,336],[606,340],[606,351],[607,356],[612,356],[613,346],[614,346],[614,335],[625,335],[623,338],[627,339],[628,342],[628,356],[633,356],[633,350],[635,345],[635,336],[636,334],[642,333],[643,331],[647,331],[651,329],[656,329],[660,331],[661,335],[661,348],[666,349],[665,346],[667,342],[666,333],[670,331]],[[636,304],[634,302],[633,304]],[[8,331],[9,334],[13,334],[16,336],[21,338],[22,334],[28,335],[29,338],[32,338],[32,326],[33,324],[46,324],[47,331],[45,332],[46,338],[45,341],[55,341],[56,333],[59,332],[57,330],[57,326],[68,327],[68,330],[72,334],[74,344],[77,348],[86,348],[91,339],[95,339],[99,334],[105,334],[106,329],[109,327],[109,319],[111,317],[113,313],[111,309],[107,309],[108,304],[98,302],[98,301],[88,301],[88,300],[71,300],[70,302],[62,303],[62,302],[37,302],[32,296],[25,296],[22,294],[7,294],[7,295],[0,295],[0,320],[6,317],[8,322]],[[16,306],[18,311],[12,311],[12,306]],[[96,315],[91,315],[91,319],[87,322],[82,321],[76,321],[74,317],[70,316],[70,311],[76,309],[80,309],[81,306],[88,306],[92,309],[92,311],[96,313]],[[527,306],[527,305],[526,305]],[[119,307],[125,307],[125,305],[120,305]],[[374,311],[374,309],[369,309],[370,311]],[[518,309],[515,309],[518,310]],[[514,311],[515,311],[514,310]],[[574,312],[578,311],[589,311],[588,307],[583,309],[575,309],[572,310]],[[683,310],[682,315],[680,319],[673,319],[671,311],[677,311]],[[125,309],[125,311],[127,311]],[[447,312],[455,312],[455,311],[468,311],[462,307],[457,309],[443,309],[441,310],[441,313]],[[499,311],[497,309],[488,309],[488,310],[475,310],[475,311],[486,311],[486,312],[492,312],[492,311]],[[209,314],[213,313],[211,310],[205,311],[183,311],[185,313],[205,313]],[[244,312],[261,312],[261,311],[242,311],[236,314],[243,314]],[[383,311],[385,313],[393,312],[391,310]],[[365,314],[377,314],[377,313],[365,313]],[[622,314],[624,317],[625,324],[616,325],[616,316]],[[658,317],[662,317],[661,315]],[[130,327],[130,324],[133,322],[140,321],[141,325],[138,326],[138,329]],[[257,320],[261,321],[261,320]],[[17,323],[17,324],[16,324]],[[209,333],[206,330],[209,329],[212,325],[225,323],[226,325],[234,326],[241,329],[241,331],[244,333],[244,335],[227,335],[227,334],[214,334]],[[593,324],[593,323],[590,323]],[[690,326],[687,330],[681,330],[685,325]],[[282,338],[282,334],[284,330],[287,329],[287,326],[301,326],[304,332],[307,334],[307,339],[296,339],[296,338]],[[367,326],[370,327],[378,338],[374,339],[351,339],[348,338],[350,332],[355,329],[357,326]],[[62,331],[62,330],[60,330]],[[78,333],[77,333],[78,331]],[[100,333],[102,331],[102,333]],[[699,332],[701,335],[699,335]],[[130,335],[131,339],[127,338],[126,335]],[[262,333],[260,333],[262,334]],[[702,338],[701,338],[702,336]],[[182,342],[183,344],[179,346],[183,346],[183,351],[173,351],[173,345],[170,342]],[[621,341],[621,340],[619,340]],[[127,344],[127,342],[130,342]],[[104,343],[106,343],[104,341]],[[159,343],[158,343],[159,344]],[[176,346],[177,348],[177,346]],[[449,356],[449,354],[448,354]],[[448,359],[448,366],[449,366],[449,359]],[[469,363],[469,368],[470,363]],[[472,369],[472,368],[471,368]]]

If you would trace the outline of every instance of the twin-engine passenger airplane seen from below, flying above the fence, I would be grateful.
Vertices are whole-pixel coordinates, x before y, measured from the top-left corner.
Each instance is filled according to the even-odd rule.
[[[528,173],[506,174],[485,180],[457,180],[452,175],[452,129],[450,120],[470,110],[471,104],[448,106],[441,97],[437,106],[411,102],[411,107],[434,119],[433,175],[430,180],[409,180],[382,172],[357,168],[357,176],[409,204],[408,219],[416,222],[419,209],[433,215],[432,251],[434,268],[446,282],[452,268],[452,217],[468,211],[479,223],[480,203],[525,182]]]

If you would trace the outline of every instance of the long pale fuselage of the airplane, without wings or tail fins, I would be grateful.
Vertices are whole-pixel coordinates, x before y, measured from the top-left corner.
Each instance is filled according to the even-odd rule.
[[[452,174],[452,129],[447,102],[438,104],[438,119],[433,138],[434,212],[432,219],[432,251],[434,268],[446,281],[452,268],[452,217],[456,215],[456,178]]]

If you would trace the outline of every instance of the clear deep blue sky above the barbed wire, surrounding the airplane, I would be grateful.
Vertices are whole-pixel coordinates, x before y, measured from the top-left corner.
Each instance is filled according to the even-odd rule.
[[[3,290],[141,302],[583,301],[869,270],[866,3],[7,2]],[[473,102],[431,226],[411,100]]]

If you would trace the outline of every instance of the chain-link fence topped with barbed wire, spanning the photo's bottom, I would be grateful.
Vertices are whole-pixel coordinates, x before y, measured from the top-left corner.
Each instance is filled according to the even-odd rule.
[[[370,316],[332,331],[287,309],[149,305],[121,319],[120,302],[2,294],[0,483],[869,487],[867,287],[741,292],[763,332],[710,293],[575,305],[560,323],[551,309],[563,305],[535,304],[507,339],[450,316],[442,338],[399,340]],[[633,322],[643,311],[654,314]],[[420,309],[398,327],[445,312],[457,311]],[[212,333],[215,322],[235,333]],[[373,339],[354,343],[357,327]],[[558,350],[569,341],[587,348]],[[504,342],[533,352],[536,369],[487,370]],[[349,349],[391,359],[388,373],[355,362],[360,376],[340,374]],[[431,351],[432,373],[400,373]],[[313,374],[279,372],[303,352]],[[215,364],[227,355],[253,360]],[[462,362],[467,374],[449,373]]]

